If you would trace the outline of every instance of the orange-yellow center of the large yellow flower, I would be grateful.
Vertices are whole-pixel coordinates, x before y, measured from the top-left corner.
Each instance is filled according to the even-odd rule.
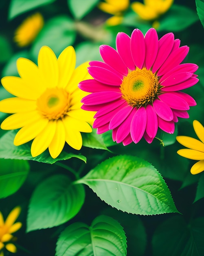
[[[37,99],[37,110],[51,119],[63,118],[70,106],[70,94],[62,88],[48,88]]]

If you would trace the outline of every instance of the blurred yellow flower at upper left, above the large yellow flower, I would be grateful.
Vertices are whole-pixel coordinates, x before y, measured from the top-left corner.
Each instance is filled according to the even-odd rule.
[[[22,24],[16,29],[13,40],[19,47],[24,47],[33,42],[39,31],[44,25],[43,17],[40,13],[35,13],[26,18]]]

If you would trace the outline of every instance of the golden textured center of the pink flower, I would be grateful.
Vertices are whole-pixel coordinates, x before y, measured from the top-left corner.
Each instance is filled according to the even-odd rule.
[[[158,88],[158,76],[146,67],[141,70],[136,67],[136,70],[129,72],[120,87],[123,99],[132,107],[147,106],[148,103],[153,103]]]

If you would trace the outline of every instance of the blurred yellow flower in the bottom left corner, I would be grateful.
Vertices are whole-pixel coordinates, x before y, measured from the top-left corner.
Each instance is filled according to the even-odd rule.
[[[15,207],[10,213],[7,219],[4,222],[4,218],[2,213],[0,212],[0,256],[4,256],[2,249],[5,247],[9,252],[16,252],[17,249],[15,245],[9,242],[13,236],[12,233],[16,232],[18,229],[22,227],[21,222],[15,222],[20,214],[21,208]],[[6,244],[5,244],[6,243]]]

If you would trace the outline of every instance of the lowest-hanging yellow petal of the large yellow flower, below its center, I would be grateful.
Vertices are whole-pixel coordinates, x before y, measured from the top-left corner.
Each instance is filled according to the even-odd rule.
[[[61,153],[65,144],[65,129],[61,119],[57,120],[57,126],[53,140],[49,144],[49,152],[51,157],[56,158]]]

